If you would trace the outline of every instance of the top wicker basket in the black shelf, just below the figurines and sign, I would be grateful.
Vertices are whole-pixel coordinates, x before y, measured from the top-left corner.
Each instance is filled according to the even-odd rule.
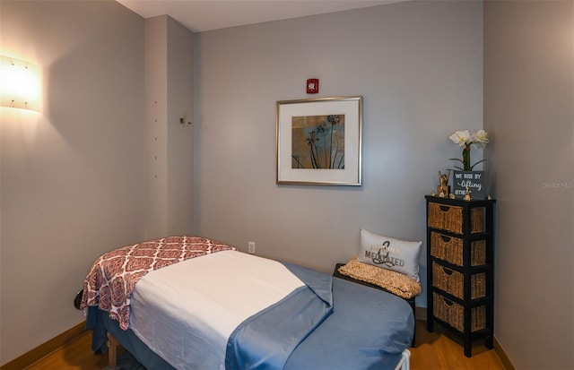
[[[455,205],[445,205],[429,202],[429,227],[447,230],[453,233],[463,233],[463,208]],[[471,232],[480,233],[484,230],[484,207],[471,209]]]

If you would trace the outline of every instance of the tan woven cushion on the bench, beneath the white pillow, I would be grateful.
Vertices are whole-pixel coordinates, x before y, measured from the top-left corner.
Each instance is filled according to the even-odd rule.
[[[339,272],[352,279],[366,281],[385,288],[398,297],[408,299],[422,293],[422,286],[419,281],[400,272],[359,262],[356,258],[339,267]]]

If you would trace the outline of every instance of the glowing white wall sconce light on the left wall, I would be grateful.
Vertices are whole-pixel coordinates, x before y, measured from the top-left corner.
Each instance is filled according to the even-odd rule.
[[[38,65],[0,56],[0,107],[40,110],[41,83]]]

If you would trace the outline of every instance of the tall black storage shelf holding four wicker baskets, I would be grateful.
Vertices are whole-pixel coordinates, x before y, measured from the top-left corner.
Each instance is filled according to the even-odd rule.
[[[464,201],[431,195],[426,196],[426,201],[427,329],[433,331],[434,323],[446,327],[462,339],[465,356],[471,357],[474,340],[485,339],[486,348],[493,348],[495,201]],[[482,208],[483,211],[476,208]],[[436,245],[432,245],[431,233],[435,233]],[[436,234],[445,236],[444,240],[437,238]],[[457,245],[449,244],[447,237],[457,238]],[[474,249],[474,242],[480,242],[481,248]],[[434,253],[438,255],[431,254],[431,247],[435,248],[437,252]],[[474,252],[479,256],[476,259]],[[451,280],[444,274],[433,276],[433,263],[457,271],[457,280]],[[452,284],[457,288],[453,288]],[[455,289],[454,294],[459,296],[462,289],[462,297],[456,297],[453,292],[445,289]],[[484,296],[472,298],[474,290]],[[438,299],[437,307],[434,306],[435,296]],[[472,331],[473,328],[478,329]]]

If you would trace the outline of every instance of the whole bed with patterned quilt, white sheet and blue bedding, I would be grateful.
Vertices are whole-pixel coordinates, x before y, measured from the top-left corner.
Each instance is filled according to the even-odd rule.
[[[400,297],[201,237],[103,254],[80,307],[147,369],[405,370],[414,334]]]

